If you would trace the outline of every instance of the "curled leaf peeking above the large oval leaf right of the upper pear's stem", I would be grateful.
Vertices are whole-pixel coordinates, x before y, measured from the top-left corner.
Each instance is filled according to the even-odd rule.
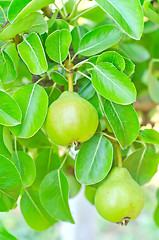
[[[108,52],[102,53],[97,59],[97,63],[100,63],[100,62],[110,62],[119,71],[123,71],[125,69],[124,58],[115,51],[108,51]]]

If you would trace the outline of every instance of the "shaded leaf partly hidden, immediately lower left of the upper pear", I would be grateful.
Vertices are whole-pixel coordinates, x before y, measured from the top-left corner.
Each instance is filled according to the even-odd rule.
[[[26,148],[42,148],[51,145],[48,138],[41,129],[31,138],[18,138],[17,140]]]

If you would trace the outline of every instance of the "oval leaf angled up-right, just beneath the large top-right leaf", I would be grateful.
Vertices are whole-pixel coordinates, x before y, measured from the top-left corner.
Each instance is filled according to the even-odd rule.
[[[119,42],[121,37],[121,31],[117,27],[100,26],[82,37],[78,54],[86,57],[98,54]]]

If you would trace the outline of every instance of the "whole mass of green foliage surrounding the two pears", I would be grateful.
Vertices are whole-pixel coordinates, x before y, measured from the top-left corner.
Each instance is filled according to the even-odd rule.
[[[84,184],[93,203],[120,151],[123,166],[141,185],[151,180],[159,162],[159,133],[140,131],[132,105],[136,88],[159,102],[156,8],[149,0],[96,0],[98,5],[78,11],[79,3],[68,0],[50,14],[54,0],[0,1],[0,211],[15,208],[20,197],[21,212],[36,231],[60,220],[74,223],[70,176],[77,186],[72,196]],[[143,10],[150,19],[145,23]],[[80,17],[85,24],[79,24]],[[100,119],[76,161],[67,151],[60,157],[43,128],[48,106],[68,90],[67,57],[74,63],[74,88]]]

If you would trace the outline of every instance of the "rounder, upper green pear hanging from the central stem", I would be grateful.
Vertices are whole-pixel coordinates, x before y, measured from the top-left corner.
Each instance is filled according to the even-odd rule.
[[[45,122],[50,139],[57,145],[68,146],[90,139],[98,127],[96,109],[75,92],[63,92],[51,104]]]

